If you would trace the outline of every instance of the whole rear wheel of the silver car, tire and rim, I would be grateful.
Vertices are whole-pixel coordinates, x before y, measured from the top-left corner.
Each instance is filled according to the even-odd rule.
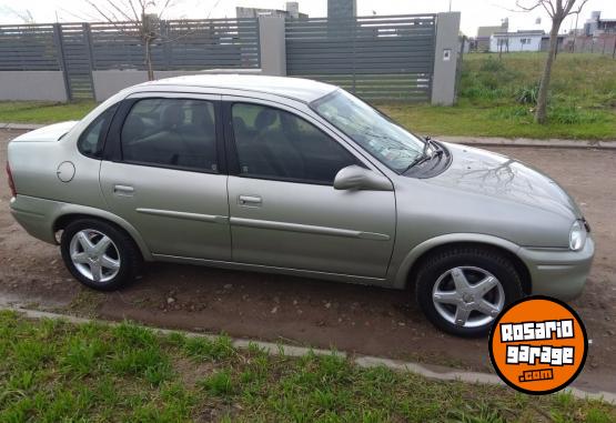
[[[70,223],[62,232],[60,249],[71,274],[95,290],[119,289],[139,274],[141,255],[132,239],[103,221]]]

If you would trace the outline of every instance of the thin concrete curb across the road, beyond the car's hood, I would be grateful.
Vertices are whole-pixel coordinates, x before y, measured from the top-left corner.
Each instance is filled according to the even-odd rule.
[[[434,137],[445,142],[482,147],[534,147],[557,149],[600,149],[616,150],[616,141],[588,140],[533,140],[527,138],[483,138],[483,137]]]

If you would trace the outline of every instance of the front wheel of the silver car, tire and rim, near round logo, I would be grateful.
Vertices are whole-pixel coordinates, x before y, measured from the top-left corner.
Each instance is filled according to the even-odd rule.
[[[523,296],[511,261],[484,248],[452,248],[417,271],[416,298],[427,319],[457,336],[484,336],[503,309]]]

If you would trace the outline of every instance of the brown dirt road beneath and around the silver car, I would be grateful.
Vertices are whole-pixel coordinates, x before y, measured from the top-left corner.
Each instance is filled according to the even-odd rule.
[[[0,162],[7,141],[0,130]],[[582,298],[573,302],[593,340],[585,389],[616,392],[616,151],[497,147],[542,169],[575,197],[589,220],[597,255]],[[154,263],[120,292],[82,289],[59,250],[29,236],[9,213],[0,177],[0,299],[105,319],[491,371],[485,340],[460,340],[433,329],[408,292],[281,275]]]

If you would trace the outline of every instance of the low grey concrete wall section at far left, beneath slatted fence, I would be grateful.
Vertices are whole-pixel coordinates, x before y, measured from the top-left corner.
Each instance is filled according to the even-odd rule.
[[[0,71],[0,100],[67,101],[61,71]]]

